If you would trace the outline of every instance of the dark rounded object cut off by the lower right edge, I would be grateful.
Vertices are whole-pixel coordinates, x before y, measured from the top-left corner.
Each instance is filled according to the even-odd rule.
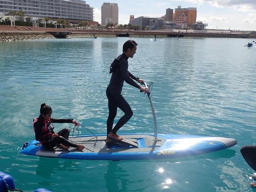
[[[243,146],[240,151],[245,161],[256,172],[256,145]]]

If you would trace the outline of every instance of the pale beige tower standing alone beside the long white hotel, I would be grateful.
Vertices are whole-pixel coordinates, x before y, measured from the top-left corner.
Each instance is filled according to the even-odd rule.
[[[118,24],[118,5],[116,3],[103,3],[101,6],[101,25],[108,23]]]

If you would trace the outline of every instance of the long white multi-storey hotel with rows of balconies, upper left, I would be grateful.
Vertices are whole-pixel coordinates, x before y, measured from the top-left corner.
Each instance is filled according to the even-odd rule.
[[[75,20],[93,20],[93,8],[82,0],[13,0],[0,1],[0,12],[23,10],[26,16]]]

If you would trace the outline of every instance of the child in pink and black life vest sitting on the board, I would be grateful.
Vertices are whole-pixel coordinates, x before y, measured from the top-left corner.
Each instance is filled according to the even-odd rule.
[[[69,130],[62,129],[58,133],[54,133],[54,126],[52,123],[74,123],[79,124],[73,119],[53,119],[51,118],[52,108],[46,103],[41,104],[40,115],[33,120],[33,129],[35,132],[35,139],[39,141],[46,148],[53,148],[56,145],[67,150],[70,146],[76,147],[78,150],[83,150],[85,147],[81,144],[75,144],[68,140]]]

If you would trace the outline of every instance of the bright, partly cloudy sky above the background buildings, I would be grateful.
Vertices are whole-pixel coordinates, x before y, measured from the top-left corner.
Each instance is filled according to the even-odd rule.
[[[197,21],[208,24],[207,29],[256,31],[256,0],[87,0],[94,8],[94,20],[101,23],[101,5],[117,3],[119,24],[128,24],[134,17],[161,17],[166,9],[196,7]]]

